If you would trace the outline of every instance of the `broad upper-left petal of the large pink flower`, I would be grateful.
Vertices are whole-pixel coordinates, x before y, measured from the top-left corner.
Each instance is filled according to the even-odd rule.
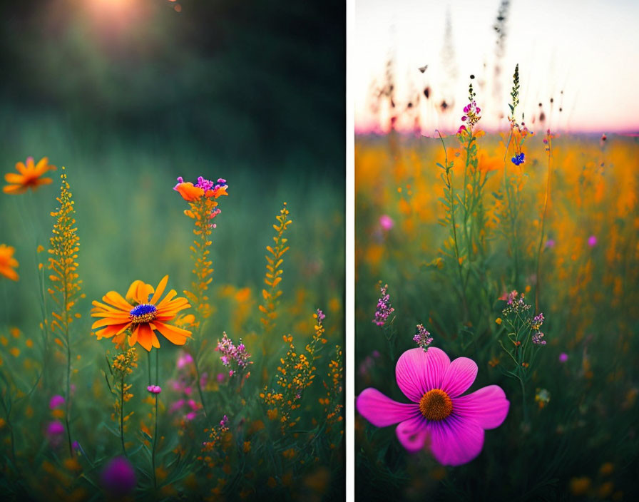
[[[437,347],[431,347],[427,352],[419,348],[407,350],[395,367],[397,385],[408,399],[419,403],[426,392],[440,388],[450,364],[446,352]]]

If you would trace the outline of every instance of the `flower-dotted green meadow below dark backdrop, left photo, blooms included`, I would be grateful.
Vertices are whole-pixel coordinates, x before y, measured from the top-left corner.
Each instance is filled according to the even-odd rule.
[[[2,498],[343,497],[341,190],[54,135],[4,159]]]

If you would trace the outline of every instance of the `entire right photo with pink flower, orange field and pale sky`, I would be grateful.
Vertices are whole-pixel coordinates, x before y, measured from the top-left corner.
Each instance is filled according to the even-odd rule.
[[[637,500],[638,21],[356,2],[357,501]]]

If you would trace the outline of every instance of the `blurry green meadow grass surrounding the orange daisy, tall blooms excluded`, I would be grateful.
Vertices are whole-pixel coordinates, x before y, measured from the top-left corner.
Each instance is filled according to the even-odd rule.
[[[20,275],[18,282],[3,277],[0,285],[4,498],[342,497],[344,398],[336,346],[344,345],[343,185],[321,174],[325,166],[306,163],[302,169],[297,159],[277,167],[241,160],[230,165],[178,133],[160,141],[95,130],[78,132],[64,118],[44,113],[2,124],[5,172],[27,155],[36,161],[46,155],[58,166],[48,173],[51,185],[0,197],[0,240],[15,248]],[[50,213],[59,207],[61,166],[73,194],[83,294],[70,310],[81,317],[69,327],[68,346],[43,329],[53,319],[46,249],[56,222]],[[195,181],[198,175],[225,178],[229,185],[228,197],[218,199],[222,212],[213,220],[208,245],[214,270],[210,316],[198,317],[185,347],[160,336],[161,348],[149,356],[139,345],[127,354],[111,339],[96,339],[91,302],[106,292],[124,295],[133,280],[155,287],[164,275],[167,291],[182,297],[183,290],[192,290],[193,220],[183,214],[188,204],[173,185],[178,176]],[[290,250],[278,265],[283,278],[277,326],[267,333],[258,307],[266,287],[266,247],[283,202],[293,220],[286,231]],[[37,252],[39,246],[44,251]],[[326,342],[314,357],[304,347],[317,336],[317,309],[325,314]],[[183,314],[199,315],[194,311]],[[215,348],[224,332],[234,347],[241,339],[250,354],[246,367],[223,364]],[[304,390],[292,398],[293,424],[284,428],[282,414],[269,413],[272,407],[260,394],[277,389],[289,340],[298,349],[287,363],[295,367],[307,354],[310,364]],[[159,394],[147,389],[154,385]],[[53,396],[62,401],[50,401]],[[57,426],[50,429],[59,421],[63,434]],[[134,473],[126,493],[118,492],[126,480],[109,477],[126,474],[126,466],[109,465],[118,457]]]

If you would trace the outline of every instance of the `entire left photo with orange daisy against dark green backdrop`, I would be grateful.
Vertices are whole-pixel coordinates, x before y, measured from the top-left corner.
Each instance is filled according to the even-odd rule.
[[[345,499],[345,12],[0,6],[4,500]]]

